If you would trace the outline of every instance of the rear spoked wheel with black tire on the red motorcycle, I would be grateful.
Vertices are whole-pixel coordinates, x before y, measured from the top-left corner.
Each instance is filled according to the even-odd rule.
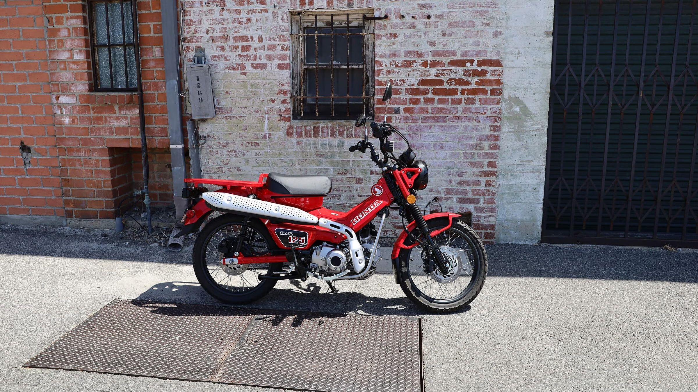
[[[201,287],[227,303],[249,303],[260,299],[276,285],[276,280],[260,281],[258,276],[281,271],[281,263],[225,265],[221,262],[223,257],[233,257],[242,224],[242,217],[219,216],[204,227],[194,244],[194,272]],[[265,227],[257,220],[251,220],[240,249],[242,255],[267,255],[272,246],[274,243]]]

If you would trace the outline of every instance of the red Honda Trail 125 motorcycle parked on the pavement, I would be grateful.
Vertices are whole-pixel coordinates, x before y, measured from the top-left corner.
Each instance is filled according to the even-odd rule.
[[[383,101],[392,96],[387,85]],[[392,248],[393,273],[410,300],[431,312],[450,312],[468,305],[482,289],[487,253],[482,241],[456,213],[422,216],[417,191],[426,188],[426,163],[399,130],[383,120],[371,121],[378,151],[369,141],[367,119],[359,115],[364,139],[349,151],[369,152],[382,169],[371,195],[346,212],[322,206],[332,190],[326,176],[261,174],[258,181],[186,179],[192,187],[179,235],[198,230],[213,211],[222,214],[206,223],[193,250],[196,277],[206,291],[227,303],[260,299],[281,279],[317,278],[332,291],[338,280],[370,278],[380,259],[378,241],[385,219],[394,210],[403,232]],[[408,146],[396,156],[391,135]],[[220,187],[210,192],[203,185]],[[374,218],[380,218],[378,227]]]

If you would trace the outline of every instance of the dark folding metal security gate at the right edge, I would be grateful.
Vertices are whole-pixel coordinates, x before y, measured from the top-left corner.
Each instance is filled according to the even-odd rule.
[[[698,248],[696,13],[556,1],[543,242]]]

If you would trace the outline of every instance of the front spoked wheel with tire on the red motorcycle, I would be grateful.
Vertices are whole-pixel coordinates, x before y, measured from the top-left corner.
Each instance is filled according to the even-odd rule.
[[[443,227],[443,224],[430,225],[429,230]],[[446,260],[447,273],[436,265],[429,271],[429,256],[418,245],[400,251],[400,285],[420,308],[430,312],[461,310],[475,299],[484,285],[487,252],[473,229],[458,220],[453,220],[451,227],[433,239]]]

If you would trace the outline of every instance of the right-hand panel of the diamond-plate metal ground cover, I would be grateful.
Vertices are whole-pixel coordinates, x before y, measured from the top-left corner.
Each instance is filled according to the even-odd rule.
[[[337,392],[420,391],[420,354],[416,319],[255,317],[218,379]]]

